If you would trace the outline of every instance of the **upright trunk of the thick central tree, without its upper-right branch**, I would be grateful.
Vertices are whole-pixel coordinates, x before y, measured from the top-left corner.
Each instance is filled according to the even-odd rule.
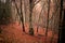
[[[31,14],[32,14],[32,0],[29,0],[30,14],[29,14],[29,34],[34,35],[34,29],[31,25]]]

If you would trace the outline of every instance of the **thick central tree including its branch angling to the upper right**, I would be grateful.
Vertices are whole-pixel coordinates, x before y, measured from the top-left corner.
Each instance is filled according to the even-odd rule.
[[[32,25],[31,25],[31,14],[32,14],[32,9],[34,6],[39,2],[40,0],[38,0],[37,2],[34,0],[29,0],[29,6],[30,6],[30,14],[29,14],[29,34],[34,35],[34,29],[32,29]]]

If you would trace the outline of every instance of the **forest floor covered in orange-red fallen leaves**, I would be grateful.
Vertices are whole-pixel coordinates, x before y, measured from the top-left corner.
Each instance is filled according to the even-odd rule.
[[[37,32],[37,26],[34,26],[34,35],[28,34],[28,24],[25,24],[26,32],[23,32],[22,25],[18,25],[18,23],[0,25],[0,43],[57,43],[57,34],[53,35],[52,31],[49,30],[46,38],[44,29],[39,29]]]

